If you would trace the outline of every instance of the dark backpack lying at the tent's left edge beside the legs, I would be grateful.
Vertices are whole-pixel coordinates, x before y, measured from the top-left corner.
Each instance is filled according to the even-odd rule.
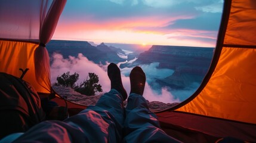
[[[39,95],[24,80],[0,72],[0,139],[45,119]]]

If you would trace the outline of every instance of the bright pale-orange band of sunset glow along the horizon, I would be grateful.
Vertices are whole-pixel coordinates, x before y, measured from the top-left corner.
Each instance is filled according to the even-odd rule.
[[[57,27],[60,28],[60,27]],[[54,33],[53,39],[57,40],[75,40],[75,41],[90,41],[94,43],[125,43],[125,44],[138,44],[141,48],[147,45],[172,45],[172,46],[202,46],[202,47],[214,47],[215,39],[212,36],[212,41],[199,41],[195,39],[188,39],[187,36],[199,36],[209,34],[207,31],[199,30],[180,30],[172,32],[172,34],[160,34],[160,33],[143,33],[133,32],[126,30],[75,30],[72,35],[65,33],[65,30],[58,30],[58,33]],[[64,37],[63,37],[64,35]],[[143,41],[143,42],[141,42]]]

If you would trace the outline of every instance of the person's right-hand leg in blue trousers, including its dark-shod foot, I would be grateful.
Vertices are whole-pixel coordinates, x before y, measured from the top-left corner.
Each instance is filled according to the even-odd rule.
[[[130,80],[131,93],[125,113],[123,142],[179,142],[161,129],[156,115],[149,110],[142,96],[146,76],[140,67],[132,69]]]

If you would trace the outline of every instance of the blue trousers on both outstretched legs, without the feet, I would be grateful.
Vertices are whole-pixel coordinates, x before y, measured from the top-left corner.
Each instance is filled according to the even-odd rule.
[[[127,107],[115,89],[96,105],[61,121],[45,121],[29,129],[17,142],[179,142],[160,128],[146,100],[130,94]]]

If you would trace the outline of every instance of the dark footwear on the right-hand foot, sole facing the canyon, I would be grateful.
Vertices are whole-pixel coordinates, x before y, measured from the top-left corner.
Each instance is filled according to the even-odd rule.
[[[131,93],[143,95],[146,75],[140,67],[134,67],[129,74],[129,80],[131,82]]]

